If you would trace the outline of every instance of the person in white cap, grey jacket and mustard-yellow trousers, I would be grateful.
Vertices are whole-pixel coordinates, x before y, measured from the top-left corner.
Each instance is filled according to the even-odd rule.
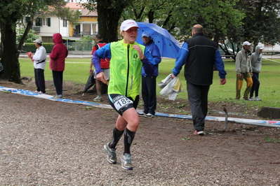
[[[242,50],[240,50],[236,54],[235,58],[235,71],[236,71],[236,100],[240,100],[241,96],[241,88],[243,85],[243,80],[246,80],[247,86],[246,90],[244,91],[243,99],[245,101],[251,101],[249,98],[249,93],[251,91],[251,88],[253,86],[253,80],[252,80],[252,69],[251,69],[251,60],[250,55],[251,51],[250,46],[252,45],[248,41],[245,41],[243,44]]]

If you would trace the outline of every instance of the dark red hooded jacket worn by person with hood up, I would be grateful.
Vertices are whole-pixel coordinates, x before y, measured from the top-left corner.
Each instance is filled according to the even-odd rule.
[[[65,57],[68,55],[68,50],[65,44],[62,43],[62,36],[59,33],[53,34],[53,50],[50,54],[50,69],[52,71],[65,70]]]

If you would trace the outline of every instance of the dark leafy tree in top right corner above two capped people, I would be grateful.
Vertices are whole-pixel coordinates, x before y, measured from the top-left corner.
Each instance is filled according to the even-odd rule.
[[[244,18],[244,40],[254,44],[276,44],[280,40],[280,3],[278,0],[244,1],[240,0],[239,10]]]

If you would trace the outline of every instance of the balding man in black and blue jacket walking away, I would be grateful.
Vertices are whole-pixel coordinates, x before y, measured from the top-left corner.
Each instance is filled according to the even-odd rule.
[[[192,110],[194,134],[204,135],[204,121],[208,112],[208,91],[213,82],[214,66],[219,71],[220,85],[227,82],[225,66],[218,50],[218,44],[204,36],[200,24],[192,27],[192,38],[182,45],[175,61],[172,78],[178,76],[185,65],[185,79],[189,105]]]

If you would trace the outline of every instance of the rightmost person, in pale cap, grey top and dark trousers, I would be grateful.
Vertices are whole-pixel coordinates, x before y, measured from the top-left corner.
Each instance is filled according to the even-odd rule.
[[[250,99],[254,101],[262,101],[259,97],[259,88],[260,88],[260,80],[259,73],[262,69],[262,50],[264,48],[260,45],[255,47],[255,52],[251,55],[251,66],[253,70],[253,86],[250,92]],[[253,98],[253,94],[255,92],[255,98]]]

